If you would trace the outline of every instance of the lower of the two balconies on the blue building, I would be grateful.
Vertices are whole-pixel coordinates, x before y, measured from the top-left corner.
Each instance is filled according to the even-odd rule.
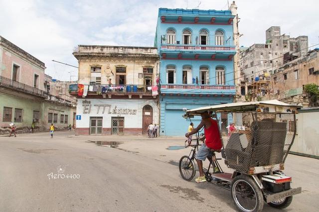
[[[213,95],[217,96],[233,96],[236,93],[235,86],[233,85],[189,85],[189,84],[165,84],[160,85],[160,93],[165,96],[176,94],[177,96],[199,95]],[[208,96],[208,97],[209,97]]]

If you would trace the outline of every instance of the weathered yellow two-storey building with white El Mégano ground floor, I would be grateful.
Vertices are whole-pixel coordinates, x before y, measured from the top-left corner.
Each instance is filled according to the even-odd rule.
[[[159,124],[153,47],[79,45],[77,134],[142,134]],[[153,92],[152,92],[153,89]]]

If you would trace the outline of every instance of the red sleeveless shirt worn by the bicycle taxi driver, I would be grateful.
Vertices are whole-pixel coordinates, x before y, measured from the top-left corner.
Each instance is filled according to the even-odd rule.
[[[220,140],[220,134],[218,129],[217,121],[212,118],[209,118],[211,125],[208,129],[204,127],[204,134],[206,137],[206,146],[211,149],[219,150],[222,148],[222,143]]]

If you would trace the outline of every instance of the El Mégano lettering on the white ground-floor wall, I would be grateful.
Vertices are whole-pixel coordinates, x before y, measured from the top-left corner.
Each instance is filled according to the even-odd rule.
[[[82,101],[82,106],[83,106],[83,114],[90,114],[92,109],[91,101],[87,101],[87,100]],[[101,114],[107,113],[107,114],[118,114],[118,115],[122,115],[122,114],[136,115],[137,113],[136,109],[127,109],[127,108],[118,109],[117,106],[115,106],[112,109],[112,105],[97,104],[93,106],[96,108],[97,114],[101,112]]]

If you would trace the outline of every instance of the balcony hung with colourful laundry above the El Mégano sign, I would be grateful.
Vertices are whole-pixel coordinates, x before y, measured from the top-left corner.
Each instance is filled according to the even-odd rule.
[[[77,98],[78,84],[70,85],[70,94]],[[85,98],[119,98],[119,99],[150,99],[156,98],[153,96],[152,86],[150,85],[85,85],[88,86],[88,93]]]

